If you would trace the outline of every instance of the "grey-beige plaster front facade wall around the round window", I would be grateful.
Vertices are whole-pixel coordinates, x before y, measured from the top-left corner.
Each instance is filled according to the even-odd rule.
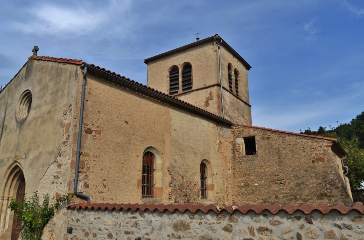
[[[75,65],[30,60],[0,93],[1,231],[5,232],[0,239],[10,239],[11,234],[13,213],[7,209],[6,200],[15,197],[17,185],[10,189],[9,196],[3,191],[12,167],[23,171],[27,196],[38,191],[41,196],[48,193],[52,200],[68,192],[69,162],[65,162],[77,71]],[[32,94],[31,109],[24,120],[18,121],[15,110],[25,90]]]

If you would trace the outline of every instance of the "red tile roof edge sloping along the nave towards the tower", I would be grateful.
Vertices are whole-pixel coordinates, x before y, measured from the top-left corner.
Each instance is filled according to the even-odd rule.
[[[176,98],[176,97],[173,97],[173,96],[171,96],[171,95],[168,95],[168,94],[165,94],[165,93],[160,92],[160,91],[158,91],[158,90],[155,90],[155,89],[153,89],[153,88],[150,88],[150,87],[148,87],[147,85],[144,85],[144,84],[138,83],[138,82],[136,82],[136,81],[134,81],[134,80],[131,80],[130,78],[126,78],[125,76],[122,76],[122,75],[117,74],[117,73],[115,73],[115,72],[111,72],[110,70],[107,70],[107,69],[105,69],[105,68],[102,68],[102,67],[99,67],[99,66],[95,66],[95,65],[94,65],[94,64],[92,64],[92,63],[86,63],[86,62],[84,62],[84,61],[82,61],[82,60],[76,60],[76,59],[70,59],[70,58],[55,58],[55,57],[48,57],[48,56],[32,56],[31,58],[32,58],[33,60],[51,61],[51,62],[59,62],[59,63],[70,63],[70,64],[76,64],[76,65],[82,65],[82,64],[85,64],[85,65],[87,65],[87,66],[91,66],[91,67],[94,67],[94,68],[96,68],[96,69],[99,69],[99,70],[101,70],[101,71],[103,71],[103,72],[105,72],[105,73],[109,73],[109,74],[111,74],[111,75],[113,75],[113,76],[116,76],[116,77],[122,78],[122,79],[124,79],[124,80],[128,80],[129,82],[134,83],[134,84],[137,84],[137,85],[139,85],[139,86],[141,86],[141,87],[143,87],[143,88],[145,88],[145,89],[152,90],[152,91],[153,91],[154,93],[156,93],[156,94],[161,94],[161,95],[163,95],[163,96],[165,96],[165,97],[167,97],[167,98],[169,98],[169,99],[177,100],[178,102],[180,102],[180,103],[182,103],[182,104],[188,105],[189,107],[192,107],[192,108],[194,108],[194,109],[196,109],[196,110],[199,110],[199,111],[201,111],[201,112],[204,112],[205,114],[212,115],[212,116],[214,116],[214,117],[215,117],[215,118],[217,118],[217,119],[223,120],[224,122],[227,122],[227,123],[229,123],[229,124],[233,124],[233,123],[232,123],[230,120],[228,120],[228,119],[224,119],[224,118],[222,118],[222,117],[220,117],[220,116],[218,116],[218,115],[216,115],[216,114],[210,113],[210,112],[208,112],[208,111],[206,111],[206,110],[204,110],[204,109],[201,109],[201,108],[199,108],[199,107],[196,107],[196,106],[194,106],[194,105],[192,105],[192,104],[189,104],[189,103],[187,103],[187,102],[185,102],[185,101],[183,101],[183,100],[180,100],[180,99],[178,99],[178,98]]]

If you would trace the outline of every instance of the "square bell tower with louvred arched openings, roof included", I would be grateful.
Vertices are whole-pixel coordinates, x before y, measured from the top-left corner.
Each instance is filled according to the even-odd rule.
[[[221,117],[224,109],[225,118],[234,123],[252,124],[247,74],[251,66],[217,34],[144,62],[148,87]]]

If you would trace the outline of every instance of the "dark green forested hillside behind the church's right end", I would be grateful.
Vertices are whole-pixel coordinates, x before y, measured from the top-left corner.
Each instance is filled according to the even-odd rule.
[[[344,164],[353,171],[352,174],[349,174],[352,190],[364,187],[364,112],[348,123],[339,124],[338,122],[336,127],[320,126],[317,131],[313,131],[309,127],[304,131],[300,131],[309,135],[338,138],[340,144],[348,153]]]

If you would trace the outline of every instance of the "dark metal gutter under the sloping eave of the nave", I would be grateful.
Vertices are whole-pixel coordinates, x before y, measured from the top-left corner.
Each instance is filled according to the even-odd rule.
[[[130,85],[130,86],[132,86],[132,87],[134,87],[134,88],[136,88],[136,89],[138,89],[138,90],[141,90],[141,91],[144,91],[144,92],[150,93],[151,95],[157,96],[157,97],[159,97],[159,98],[161,98],[161,99],[165,99],[165,100],[167,100],[167,101],[169,101],[169,102],[172,102],[172,103],[174,103],[174,104],[177,104],[177,105],[179,105],[179,106],[181,106],[181,107],[183,107],[183,108],[186,108],[186,109],[188,109],[188,110],[191,110],[191,111],[193,111],[193,112],[197,112],[197,113],[199,113],[199,114],[202,114],[202,115],[207,116],[207,117],[209,117],[209,118],[212,118],[212,119],[214,119],[214,120],[217,120],[217,121],[220,121],[220,122],[224,122],[224,123],[226,123],[226,124],[228,124],[228,125],[233,125],[233,123],[232,123],[231,121],[227,120],[227,119],[223,119],[223,118],[221,118],[221,117],[214,116],[214,115],[212,115],[212,114],[210,114],[210,113],[207,113],[207,112],[205,112],[205,111],[203,111],[203,110],[197,109],[197,108],[192,107],[192,106],[190,106],[190,105],[188,105],[188,104],[186,104],[186,103],[183,103],[183,102],[182,102],[182,101],[180,101],[180,100],[174,99],[174,98],[172,98],[172,97],[170,97],[170,96],[168,96],[168,95],[165,95],[165,94],[162,94],[162,93],[156,92],[155,90],[149,89],[149,88],[147,88],[147,87],[145,87],[145,86],[141,86],[141,85],[139,85],[138,83],[133,83],[133,82],[132,82],[132,81],[130,81],[130,80],[127,80],[127,79],[122,78],[122,77],[115,76],[115,75],[113,75],[113,74],[111,74],[111,73],[105,72],[105,71],[103,71],[103,70],[101,70],[101,69],[98,69],[98,68],[96,68],[96,67],[90,66],[90,65],[88,65],[88,64],[86,64],[86,63],[83,63],[83,64],[81,65],[81,68],[83,68],[83,67],[87,67],[89,70],[92,70],[92,71],[95,71],[95,72],[101,73],[101,74],[102,74],[102,75],[104,75],[104,76],[107,76],[107,77],[110,77],[110,78],[116,79],[116,80],[118,80],[118,81],[120,81],[120,82],[122,82],[122,83],[124,83],[124,84],[126,84],[126,85]]]

